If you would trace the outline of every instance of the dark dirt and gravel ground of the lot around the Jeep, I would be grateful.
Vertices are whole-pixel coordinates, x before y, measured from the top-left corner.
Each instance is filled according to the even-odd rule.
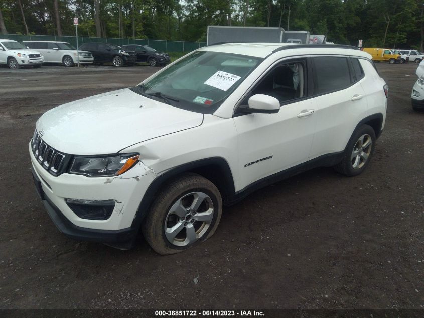
[[[0,68],[0,309],[424,308],[416,67],[377,64],[388,113],[362,175],[320,168],[268,186],[225,208],[210,240],[171,256],[143,239],[131,251],[67,239],[36,195],[27,148],[43,112],[159,68]]]

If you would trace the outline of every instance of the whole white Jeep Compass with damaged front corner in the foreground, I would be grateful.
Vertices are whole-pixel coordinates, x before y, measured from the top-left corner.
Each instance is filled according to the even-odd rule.
[[[317,166],[363,172],[387,92],[350,46],[211,45],[42,115],[35,184],[69,237],[129,248],[142,229],[156,252],[180,252],[260,187]]]

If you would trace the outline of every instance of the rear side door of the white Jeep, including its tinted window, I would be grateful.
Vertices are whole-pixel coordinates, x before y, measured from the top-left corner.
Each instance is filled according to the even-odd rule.
[[[310,159],[344,151],[360,120],[368,115],[361,81],[364,72],[357,58],[311,57],[316,96],[317,128]]]

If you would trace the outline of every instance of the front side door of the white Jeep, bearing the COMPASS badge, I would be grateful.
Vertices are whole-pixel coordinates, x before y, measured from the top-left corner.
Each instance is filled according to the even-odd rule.
[[[280,101],[276,114],[236,114],[238,190],[260,179],[308,161],[314,138],[317,107],[308,98],[306,59],[273,67],[251,90]],[[247,103],[246,101],[243,103]]]

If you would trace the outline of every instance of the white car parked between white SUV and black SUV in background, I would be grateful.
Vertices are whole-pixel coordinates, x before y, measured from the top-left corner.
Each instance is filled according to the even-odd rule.
[[[46,63],[63,63],[65,66],[74,64],[93,64],[93,56],[88,51],[77,51],[68,42],[57,41],[23,41],[30,49],[36,49],[44,56]]]

